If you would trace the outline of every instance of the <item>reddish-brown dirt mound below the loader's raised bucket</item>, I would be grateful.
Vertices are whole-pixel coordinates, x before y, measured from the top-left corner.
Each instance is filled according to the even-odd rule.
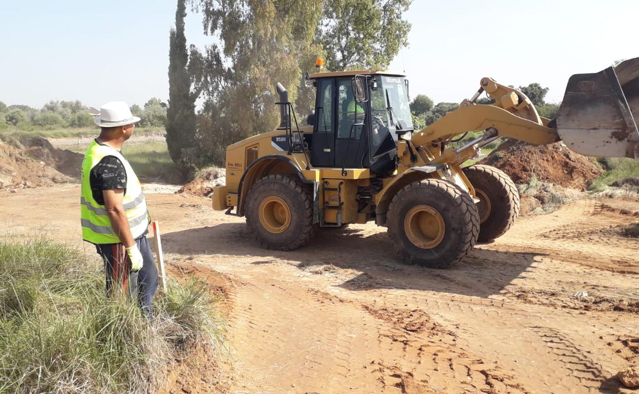
[[[578,190],[585,190],[603,172],[594,160],[574,153],[561,142],[500,147],[481,163],[503,170],[515,183],[528,183],[534,174],[538,181]]]

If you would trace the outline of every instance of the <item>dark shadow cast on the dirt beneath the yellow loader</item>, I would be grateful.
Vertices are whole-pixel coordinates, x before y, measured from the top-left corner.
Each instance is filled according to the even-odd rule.
[[[499,294],[512,280],[534,269],[535,257],[541,255],[476,248],[449,269],[429,269],[403,264],[385,231],[319,229],[308,245],[279,252],[261,248],[244,223],[170,232],[162,235],[162,245],[165,252],[181,255],[254,257],[252,264],[286,261],[300,269],[327,264],[353,269],[360,274],[340,285],[352,291],[415,289],[478,297]]]

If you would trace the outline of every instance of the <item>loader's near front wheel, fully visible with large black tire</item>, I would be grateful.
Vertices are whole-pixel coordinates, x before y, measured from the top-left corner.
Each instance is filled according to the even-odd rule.
[[[404,186],[387,213],[390,239],[409,264],[447,268],[472,250],[479,215],[470,194],[443,179]]]

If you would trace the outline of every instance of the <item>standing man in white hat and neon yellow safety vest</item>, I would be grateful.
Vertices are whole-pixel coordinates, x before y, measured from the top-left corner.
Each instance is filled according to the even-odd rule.
[[[95,120],[100,136],[91,142],[82,162],[80,207],[82,238],[93,243],[104,260],[107,294],[122,288],[148,315],[158,286],[146,240],[150,216],[140,181],[120,152],[139,120],[125,102],[100,108]]]

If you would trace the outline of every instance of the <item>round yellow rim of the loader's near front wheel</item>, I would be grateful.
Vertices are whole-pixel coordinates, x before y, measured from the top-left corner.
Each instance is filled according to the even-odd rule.
[[[404,232],[413,245],[432,249],[442,243],[446,225],[442,214],[429,205],[414,206],[404,218]]]

